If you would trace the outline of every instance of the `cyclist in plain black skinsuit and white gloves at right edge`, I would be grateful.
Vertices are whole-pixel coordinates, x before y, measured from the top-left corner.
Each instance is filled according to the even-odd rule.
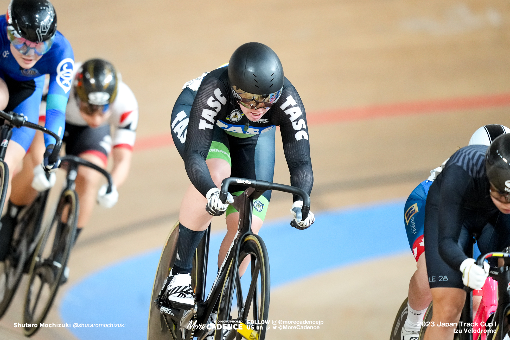
[[[466,255],[469,238],[480,252],[510,246],[510,134],[487,147],[455,152],[430,186],[425,205],[425,260],[433,301],[432,322],[457,323],[463,287],[480,289],[489,274]],[[425,340],[453,339],[455,327],[429,327]]]

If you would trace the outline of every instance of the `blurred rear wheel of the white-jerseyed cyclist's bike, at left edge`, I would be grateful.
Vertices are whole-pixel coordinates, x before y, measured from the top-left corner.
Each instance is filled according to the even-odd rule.
[[[2,167],[0,166],[0,172]],[[37,196],[34,202],[21,211],[14,229],[11,252],[0,263],[0,318],[4,316],[16,293],[23,273],[28,272],[28,264],[40,238],[40,226],[47,192]]]

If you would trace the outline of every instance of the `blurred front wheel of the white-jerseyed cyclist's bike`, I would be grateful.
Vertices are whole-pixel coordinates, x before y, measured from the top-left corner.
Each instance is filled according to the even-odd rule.
[[[76,233],[78,211],[76,192],[65,190],[60,196],[52,223],[44,230],[32,258],[29,284],[25,292],[23,323],[35,327],[24,327],[25,336],[37,332],[39,323],[46,318],[57,295]]]

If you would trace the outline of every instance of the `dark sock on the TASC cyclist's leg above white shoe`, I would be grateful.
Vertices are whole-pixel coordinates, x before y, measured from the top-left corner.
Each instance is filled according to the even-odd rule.
[[[177,258],[172,268],[172,274],[191,273],[193,268],[193,254],[206,230],[194,231],[179,223],[179,241],[177,242]]]

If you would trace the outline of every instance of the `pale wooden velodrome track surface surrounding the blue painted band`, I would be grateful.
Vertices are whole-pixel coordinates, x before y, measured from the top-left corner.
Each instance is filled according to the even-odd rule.
[[[114,208],[96,208],[60,297],[93,271],[162,245],[189,185],[179,154],[166,142],[173,102],[186,81],[227,62],[244,42],[276,51],[307,108],[314,212],[407,196],[476,128],[510,125],[507,1],[53,3],[75,60],[112,61],[140,104],[129,181]],[[274,181],[287,183],[281,143],[276,146]],[[289,206],[288,197],[273,194],[267,218],[287,216]],[[224,228],[223,221],[216,218],[214,228]],[[324,324],[313,333],[275,330],[267,338],[386,339],[414,268],[409,253],[279,287],[270,319]],[[21,291],[0,322],[0,339],[22,338],[13,328],[21,321]],[[58,300],[48,322],[60,320],[57,307]],[[74,339],[66,329],[42,329],[34,338]]]

